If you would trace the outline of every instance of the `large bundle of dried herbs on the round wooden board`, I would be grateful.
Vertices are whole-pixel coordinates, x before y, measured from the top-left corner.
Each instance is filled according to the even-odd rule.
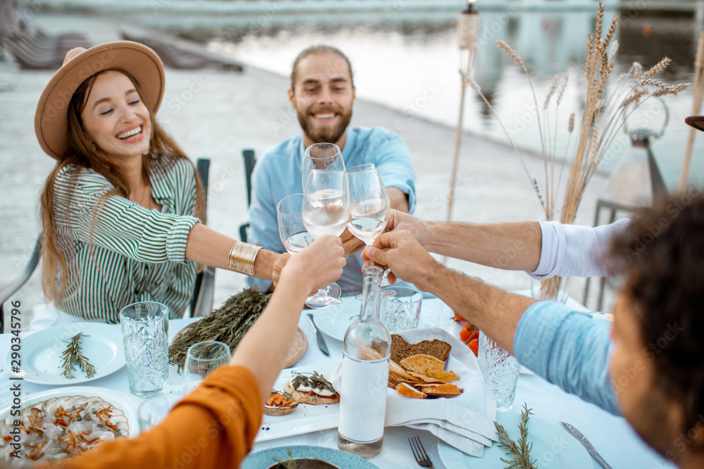
[[[169,363],[178,366],[178,373],[181,373],[188,347],[206,340],[223,342],[234,352],[244,334],[264,311],[270,297],[271,294],[265,295],[252,288],[245,288],[233,295],[222,307],[193,323],[173,341],[169,347]]]

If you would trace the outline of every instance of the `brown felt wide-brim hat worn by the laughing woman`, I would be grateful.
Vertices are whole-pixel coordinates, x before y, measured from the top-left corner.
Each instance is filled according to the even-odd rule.
[[[156,113],[164,95],[164,65],[156,52],[133,41],[115,41],[66,53],[37,103],[34,132],[42,150],[61,159],[68,148],[68,104],[76,89],[98,72],[118,68],[132,75],[142,101]]]

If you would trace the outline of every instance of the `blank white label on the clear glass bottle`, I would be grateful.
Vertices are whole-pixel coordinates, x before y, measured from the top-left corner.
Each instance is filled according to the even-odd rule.
[[[338,431],[357,443],[372,443],[384,436],[386,385],[389,383],[389,358],[342,359],[340,424]]]

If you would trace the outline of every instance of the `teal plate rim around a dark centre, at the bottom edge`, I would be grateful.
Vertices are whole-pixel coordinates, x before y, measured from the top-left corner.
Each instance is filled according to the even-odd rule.
[[[278,446],[247,456],[240,469],[268,469],[277,461],[290,458],[320,459],[340,469],[376,469],[377,466],[359,456],[322,446]]]

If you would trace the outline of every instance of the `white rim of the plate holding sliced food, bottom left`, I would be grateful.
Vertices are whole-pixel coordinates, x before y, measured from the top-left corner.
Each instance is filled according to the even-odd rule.
[[[59,387],[55,390],[36,392],[27,397],[22,397],[20,410],[37,402],[46,401],[54,397],[63,396],[85,396],[85,397],[100,397],[113,404],[116,409],[120,409],[127,417],[127,425],[129,426],[128,435],[134,437],[139,433],[139,424],[137,423],[137,407],[142,402],[142,399],[127,394],[127,392],[108,390],[103,387],[93,386],[68,386]],[[11,407],[6,407],[0,410],[0,420],[4,420],[10,415]]]

